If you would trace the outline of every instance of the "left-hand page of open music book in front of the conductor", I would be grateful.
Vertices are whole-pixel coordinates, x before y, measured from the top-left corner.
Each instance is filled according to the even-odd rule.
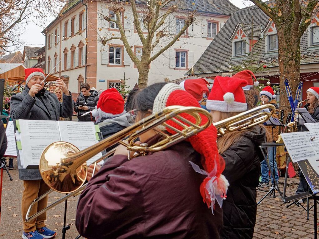
[[[19,120],[23,165],[39,165],[43,149],[49,144],[60,141],[57,121]]]

